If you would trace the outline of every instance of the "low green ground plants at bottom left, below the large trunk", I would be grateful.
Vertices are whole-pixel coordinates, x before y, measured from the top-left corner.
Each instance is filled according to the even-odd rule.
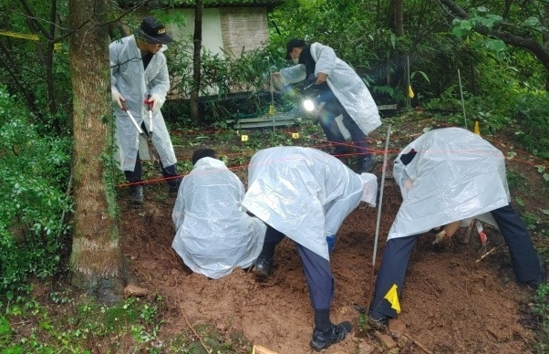
[[[5,318],[0,316],[0,348],[12,352],[89,353],[91,349],[105,347],[106,352],[156,349],[153,343],[161,327],[163,301],[129,298],[113,307],[93,302],[76,303],[74,300],[55,301],[58,298],[74,298],[70,289],[50,294],[55,306],[38,303],[34,299],[18,297],[1,307]],[[63,316],[58,316],[63,313]],[[10,328],[8,320],[25,320],[26,330]],[[131,348],[120,347],[119,339],[130,334]],[[105,340],[109,339],[109,340]]]

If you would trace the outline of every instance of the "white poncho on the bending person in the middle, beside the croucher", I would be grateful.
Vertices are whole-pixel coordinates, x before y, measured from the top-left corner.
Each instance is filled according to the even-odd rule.
[[[337,234],[361,200],[376,204],[378,181],[326,152],[300,147],[257,151],[243,206],[296,243],[329,260],[326,236]]]

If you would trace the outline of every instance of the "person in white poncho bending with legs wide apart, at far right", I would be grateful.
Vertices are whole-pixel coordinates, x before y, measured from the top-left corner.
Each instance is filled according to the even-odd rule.
[[[378,329],[397,316],[386,298],[400,297],[417,237],[440,225],[475,217],[496,225],[505,240],[517,280],[530,288],[545,281],[526,226],[510,204],[505,158],[488,141],[461,128],[431,130],[412,141],[394,161],[402,204],[392,224],[376,280],[368,322]]]

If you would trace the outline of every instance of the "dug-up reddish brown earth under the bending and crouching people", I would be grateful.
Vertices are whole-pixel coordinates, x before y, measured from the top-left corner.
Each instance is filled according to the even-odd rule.
[[[384,145],[386,131],[383,126],[371,137],[372,142],[378,141],[378,149]],[[396,153],[414,138],[412,134],[420,133],[421,126],[416,123],[395,131],[389,149]],[[233,144],[238,145],[239,141],[235,141]],[[226,143],[213,147],[220,154],[231,154],[231,142]],[[211,147],[212,142],[180,149],[178,156],[180,160],[189,159],[191,149],[205,146]],[[381,156],[382,151],[378,153]],[[522,157],[524,161],[529,159],[525,154]],[[249,156],[243,161],[245,165]],[[534,171],[535,163],[519,166],[523,173],[529,173],[531,182],[540,178]],[[245,169],[237,170],[245,185]],[[189,326],[210,323],[227,335],[243,333],[252,343],[278,353],[312,352],[308,342],[313,330],[313,310],[292,242],[286,239],[276,249],[275,274],[267,282],[258,282],[251,273],[240,269],[217,280],[192,274],[171,249],[175,234],[171,222],[174,199],[165,197],[166,188],[163,184],[151,185],[139,209],[130,207],[124,191],[119,200],[124,254],[140,278],[140,286],[161,295],[167,304],[159,338],[170,338]],[[543,198],[536,196],[540,197]],[[526,208],[531,206],[528,203],[536,203],[532,198],[523,199]],[[374,269],[377,209],[357,209],[339,230],[331,262],[336,280],[331,318],[333,322],[350,320],[354,331],[324,352],[388,352],[391,348],[399,348],[399,353],[532,352],[537,323],[528,311],[531,293],[515,283],[502,237],[492,229],[487,230],[488,249],[501,246],[482,260],[476,237],[469,245],[463,243],[465,229],[444,252],[433,250],[432,235],[420,237],[400,299],[399,318],[390,322],[387,334],[358,326],[357,309],[368,307],[372,270],[378,269],[399,203],[399,189],[389,171]]]

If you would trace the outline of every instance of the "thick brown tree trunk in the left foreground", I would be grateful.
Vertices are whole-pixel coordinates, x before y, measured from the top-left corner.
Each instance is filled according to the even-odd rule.
[[[70,73],[74,127],[75,220],[70,270],[72,283],[99,301],[122,298],[112,161],[109,88],[109,0],[69,0]]]

